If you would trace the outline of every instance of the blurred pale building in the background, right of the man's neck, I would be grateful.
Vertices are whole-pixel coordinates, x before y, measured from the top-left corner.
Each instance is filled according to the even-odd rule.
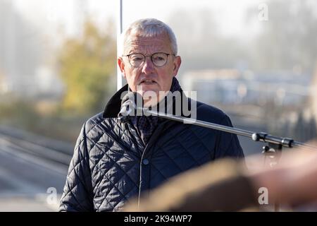
[[[185,90],[209,104],[301,105],[310,93],[311,76],[292,72],[254,73],[237,69],[189,71],[182,75]]]

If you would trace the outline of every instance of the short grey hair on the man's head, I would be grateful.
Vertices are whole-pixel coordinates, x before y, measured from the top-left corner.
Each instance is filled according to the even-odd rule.
[[[122,46],[119,47],[119,54],[123,54],[130,35],[137,35],[139,37],[156,37],[161,34],[168,35],[172,52],[177,55],[178,43],[173,30],[166,23],[163,23],[161,20],[157,20],[155,18],[141,19],[131,23],[120,37],[120,43]]]

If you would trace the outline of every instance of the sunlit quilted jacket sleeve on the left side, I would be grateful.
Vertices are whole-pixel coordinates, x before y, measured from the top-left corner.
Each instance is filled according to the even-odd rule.
[[[59,211],[92,211],[92,179],[89,169],[85,124],[77,138]]]

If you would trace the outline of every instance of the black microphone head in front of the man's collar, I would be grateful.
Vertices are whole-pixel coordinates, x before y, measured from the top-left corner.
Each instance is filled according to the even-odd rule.
[[[122,123],[126,123],[130,119],[130,116],[135,116],[135,113],[137,112],[137,104],[139,103],[142,103],[143,105],[142,95],[136,92],[127,93],[121,101],[118,120]]]

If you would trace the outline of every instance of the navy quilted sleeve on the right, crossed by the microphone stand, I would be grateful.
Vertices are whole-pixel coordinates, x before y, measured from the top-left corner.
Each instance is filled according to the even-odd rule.
[[[224,126],[232,127],[230,118],[225,114],[220,124]],[[243,150],[240,146],[240,142],[237,138],[237,135],[232,133],[226,133],[219,131],[218,138],[216,141],[216,152],[215,158],[220,157],[244,157]]]

